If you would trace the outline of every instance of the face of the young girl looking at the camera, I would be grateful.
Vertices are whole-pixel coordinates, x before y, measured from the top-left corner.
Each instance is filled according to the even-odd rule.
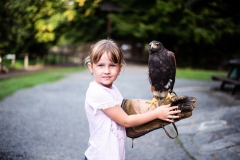
[[[89,63],[88,68],[93,73],[97,83],[111,88],[121,71],[122,65],[113,63],[104,53],[97,63]]]

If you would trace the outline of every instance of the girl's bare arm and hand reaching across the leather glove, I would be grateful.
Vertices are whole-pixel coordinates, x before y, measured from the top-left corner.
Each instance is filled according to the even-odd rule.
[[[178,108],[178,106],[163,105],[157,107],[155,110],[142,113],[127,115],[120,106],[115,106],[103,110],[103,112],[110,117],[113,121],[124,127],[138,126],[154,119],[162,119],[168,122],[173,122],[172,119],[179,118],[174,114],[181,112],[180,110],[172,111]]]

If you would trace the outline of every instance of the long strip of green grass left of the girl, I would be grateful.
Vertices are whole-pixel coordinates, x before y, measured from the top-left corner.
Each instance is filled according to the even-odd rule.
[[[60,80],[70,73],[80,72],[84,69],[85,67],[51,69],[38,71],[36,73],[27,74],[20,77],[0,80],[0,101],[18,90],[30,88],[42,83],[54,82]]]

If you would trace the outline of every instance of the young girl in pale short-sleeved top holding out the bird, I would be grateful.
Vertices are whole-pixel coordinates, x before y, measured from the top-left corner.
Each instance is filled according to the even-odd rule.
[[[154,119],[173,122],[173,111],[177,106],[164,105],[138,115],[127,115],[121,108],[123,97],[113,82],[123,65],[123,53],[118,45],[110,40],[98,41],[92,46],[85,59],[94,80],[86,93],[85,110],[89,122],[90,139],[85,159],[124,160],[125,127],[144,124]]]

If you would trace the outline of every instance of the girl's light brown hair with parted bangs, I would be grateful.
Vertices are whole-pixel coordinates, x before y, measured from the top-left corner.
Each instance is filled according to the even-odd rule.
[[[91,47],[89,55],[84,59],[85,64],[97,63],[104,53],[107,53],[108,58],[113,63],[125,64],[122,50],[111,39],[103,39],[95,43]]]

